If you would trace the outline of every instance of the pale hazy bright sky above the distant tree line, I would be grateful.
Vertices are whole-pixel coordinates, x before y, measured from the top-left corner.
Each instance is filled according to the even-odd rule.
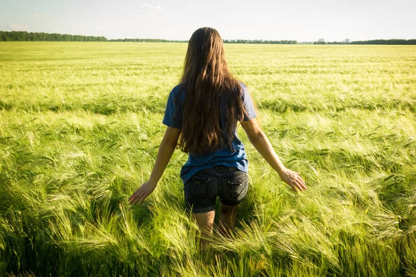
[[[416,0],[0,0],[0,30],[189,39],[415,39]]]

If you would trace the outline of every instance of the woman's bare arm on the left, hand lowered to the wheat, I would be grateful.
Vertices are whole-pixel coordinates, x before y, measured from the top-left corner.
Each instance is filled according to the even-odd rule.
[[[128,199],[129,203],[132,205],[137,204],[140,202],[142,204],[144,199],[150,195],[150,193],[155,190],[157,186],[157,182],[159,181],[160,177],[168,162],[171,160],[172,154],[175,151],[177,145],[177,139],[180,136],[180,129],[168,127],[166,132],[163,136],[162,142],[160,143],[159,151],[157,152],[157,158],[155,161],[155,166],[153,166],[152,174],[150,175],[149,180],[141,185],[135,193],[130,196]]]

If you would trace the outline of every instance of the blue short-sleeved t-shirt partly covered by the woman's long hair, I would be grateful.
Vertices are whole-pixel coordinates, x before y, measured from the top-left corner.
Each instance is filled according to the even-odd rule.
[[[244,117],[244,121],[250,120],[257,116],[254,109],[250,93],[248,93],[247,87],[244,84],[241,84],[242,93],[241,97],[243,98],[243,103],[245,111],[247,111],[248,116]],[[168,102],[166,104],[166,110],[162,123],[169,127],[180,129],[182,127],[182,106],[185,99],[185,91],[180,89],[180,85],[174,87],[169,93]],[[225,129],[225,118],[227,118],[225,101],[221,101],[221,128]],[[177,113],[175,111],[177,109]],[[239,168],[244,172],[248,172],[248,161],[245,154],[244,145],[239,140],[239,137],[236,134],[237,129],[234,130],[234,140],[232,141],[232,146],[234,152],[228,148],[221,148],[216,152],[207,152],[202,155],[188,155],[187,163],[182,166],[180,170],[180,177],[182,181],[187,183],[189,178],[196,172],[204,170],[206,168],[213,168],[214,166],[232,166]]]

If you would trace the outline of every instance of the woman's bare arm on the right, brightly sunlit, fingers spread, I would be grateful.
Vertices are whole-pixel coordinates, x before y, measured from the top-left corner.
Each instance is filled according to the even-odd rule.
[[[276,170],[279,177],[286,184],[291,186],[296,192],[297,190],[306,190],[305,182],[302,177],[300,177],[300,173],[286,168],[284,164],[281,163],[266,134],[263,133],[255,118],[243,121],[241,126],[254,148],[256,148],[268,164]]]

